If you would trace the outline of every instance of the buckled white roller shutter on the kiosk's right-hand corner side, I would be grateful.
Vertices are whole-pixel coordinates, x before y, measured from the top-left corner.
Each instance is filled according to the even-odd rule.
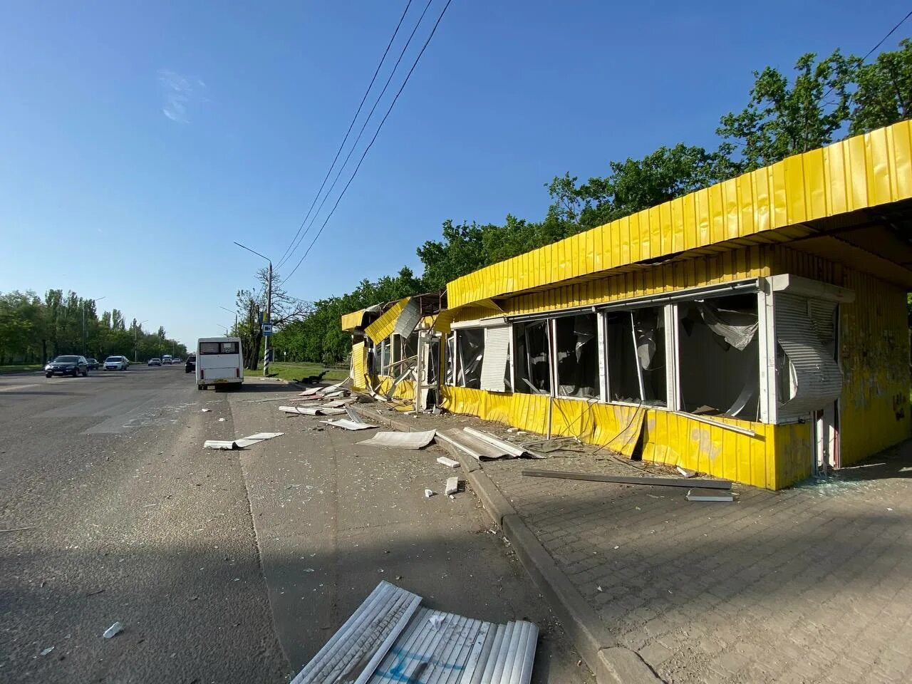
[[[773,306],[776,340],[791,362],[790,375],[794,389],[792,398],[779,404],[778,416],[780,420],[802,418],[839,398],[843,388],[843,373],[836,364],[833,353],[824,347],[824,340],[817,332],[818,324],[808,314],[806,298],[777,292]],[[823,309],[820,309],[820,313],[819,325],[825,330],[826,316]],[[832,326],[830,334],[832,335]],[[787,378],[781,375],[779,382],[785,381]]]

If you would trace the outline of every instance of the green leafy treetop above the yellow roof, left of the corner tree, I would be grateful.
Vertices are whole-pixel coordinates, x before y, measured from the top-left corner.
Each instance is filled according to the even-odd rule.
[[[772,67],[753,72],[747,107],[720,119],[716,133],[740,153],[739,171],[823,147],[845,127],[861,60],[838,49],[819,61],[816,57],[798,58],[792,83]]]

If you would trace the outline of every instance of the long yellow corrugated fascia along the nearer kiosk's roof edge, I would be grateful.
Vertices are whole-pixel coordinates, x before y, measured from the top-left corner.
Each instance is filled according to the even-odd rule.
[[[793,155],[762,169],[748,171],[734,179],[592,228],[586,233],[601,231],[604,236],[599,258],[587,257],[585,251],[589,238],[586,233],[577,233],[463,275],[447,285],[447,295],[451,308],[456,308],[489,297],[508,295],[518,289],[552,285],[571,274],[610,271],[642,259],[666,256],[910,197],[912,122],[900,121],[824,148]],[[709,198],[709,206],[701,198]],[[673,232],[674,223],[679,223],[681,219],[679,208],[693,212],[692,216],[683,216],[686,225],[696,228],[692,233],[689,230],[684,234]],[[753,220],[747,220],[748,217]],[[707,228],[703,228],[704,225]],[[628,237],[622,228],[628,229]],[[641,249],[629,250],[629,244],[639,244]],[[530,273],[526,264],[537,264],[538,267]],[[583,264],[591,270],[586,270]],[[520,283],[522,286],[518,288]]]

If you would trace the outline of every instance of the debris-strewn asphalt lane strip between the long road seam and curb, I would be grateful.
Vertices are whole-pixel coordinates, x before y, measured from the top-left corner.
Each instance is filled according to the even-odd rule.
[[[477,497],[443,495],[446,478],[464,473],[437,463],[436,450],[358,445],[376,430],[329,427],[325,417],[289,415],[278,409],[285,401],[264,400],[293,391],[245,380],[243,391],[227,395],[233,434],[285,434],[210,454],[240,461],[276,635],[295,673],[388,580],[422,596],[424,606],[531,620],[540,630],[534,684],[592,682]],[[426,498],[426,487],[440,493]]]

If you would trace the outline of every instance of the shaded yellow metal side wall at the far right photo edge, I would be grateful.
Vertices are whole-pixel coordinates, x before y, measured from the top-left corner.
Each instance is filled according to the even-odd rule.
[[[907,440],[909,332],[906,293],[874,276],[846,269],[855,303],[840,306],[840,400],[843,465]]]

